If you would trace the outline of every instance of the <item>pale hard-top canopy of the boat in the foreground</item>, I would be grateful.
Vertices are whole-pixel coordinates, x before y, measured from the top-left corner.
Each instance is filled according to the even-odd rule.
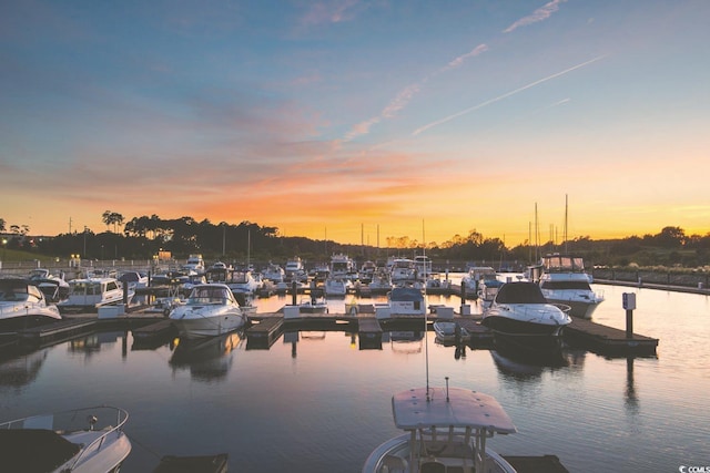
[[[498,401],[488,394],[463,388],[417,388],[392,398],[395,425],[403,430],[471,428],[496,433],[515,433],[513,421]]]

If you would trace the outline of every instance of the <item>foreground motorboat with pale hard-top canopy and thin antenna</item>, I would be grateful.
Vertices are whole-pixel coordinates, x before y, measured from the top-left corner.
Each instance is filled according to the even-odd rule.
[[[491,395],[448,385],[410,389],[393,395],[392,411],[405,433],[377,446],[363,473],[516,472],[486,446],[494,434],[517,431]]]

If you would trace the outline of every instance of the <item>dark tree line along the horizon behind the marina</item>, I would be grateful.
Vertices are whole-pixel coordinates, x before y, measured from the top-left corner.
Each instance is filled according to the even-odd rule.
[[[305,237],[284,237],[278,228],[261,226],[252,222],[201,222],[192,217],[164,219],[158,215],[134,217],[130,220],[116,212],[102,214],[106,230],[94,233],[89,228],[53,237],[29,237],[27,225],[10,226],[10,238],[3,238],[7,248],[21,248],[38,254],[68,257],[80,255],[89,259],[151,259],[159,251],[171,251],[176,258],[200,253],[207,259],[235,263],[285,261],[298,255],[310,261],[327,261],[334,253],[345,253],[358,259],[382,260],[388,256],[413,257],[426,250],[435,263],[471,264],[489,266],[504,264],[525,266],[546,253],[574,253],[594,265],[627,266],[681,266],[710,265],[710,233],[686,235],[680,227],[668,226],[658,234],[642,237],[592,240],[579,237],[568,241],[547,241],[532,246],[525,241],[508,248],[499,238],[485,237],[477,230],[466,236],[455,235],[437,244],[403,237],[386,237],[385,248],[365,245],[338,244],[334,240],[314,240]],[[0,232],[7,223],[0,218]],[[122,229],[121,229],[122,228]],[[121,229],[121,232],[119,232]],[[504,263],[505,261],[505,263]],[[514,268],[517,269],[517,268]]]

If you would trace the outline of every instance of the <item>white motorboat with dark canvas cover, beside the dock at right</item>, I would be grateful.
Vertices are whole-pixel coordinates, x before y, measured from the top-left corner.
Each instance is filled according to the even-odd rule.
[[[481,325],[494,332],[496,343],[536,351],[559,349],[562,329],[571,322],[562,308],[548,304],[540,287],[530,281],[500,286]]]

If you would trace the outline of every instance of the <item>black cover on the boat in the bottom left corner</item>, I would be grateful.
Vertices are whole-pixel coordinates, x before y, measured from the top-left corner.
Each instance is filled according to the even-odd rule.
[[[51,430],[0,429],[0,471],[53,472],[79,450]]]

